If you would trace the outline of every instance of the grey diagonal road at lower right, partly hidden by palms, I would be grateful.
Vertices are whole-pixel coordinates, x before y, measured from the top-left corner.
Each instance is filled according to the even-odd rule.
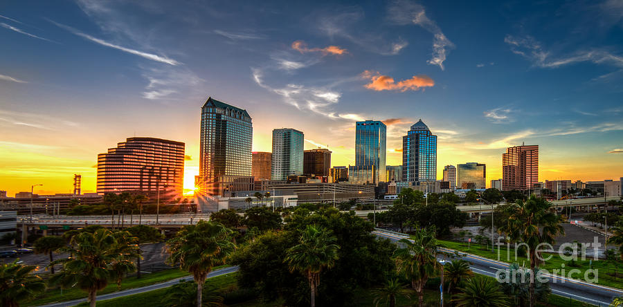
[[[405,238],[404,235],[383,231],[374,231],[372,234],[390,239],[394,242]],[[445,251],[453,252],[453,250]],[[490,277],[496,277],[496,272],[498,272],[498,270],[506,270],[508,268],[508,263],[478,257],[472,254],[464,254],[461,258],[471,263],[470,268],[473,272]],[[440,259],[442,259],[442,257],[440,257]],[[608,306],[613,298],[623,296],[623,290],[586,283],[559,275],[550,275],[549,277],[552,293],[562,297],[572,297],[573,299],[584,301],[589,304]]]

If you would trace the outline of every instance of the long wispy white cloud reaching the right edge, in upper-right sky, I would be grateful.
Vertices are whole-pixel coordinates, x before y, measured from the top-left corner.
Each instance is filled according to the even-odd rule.
[[[541,68],[558,68],[579,62],[623,67],[623,56],[614,55],[607,50],[579,50],[572,55],[556,57],[552,56],[550,51],[545,50],[541,43],[530,35],[524,37],[507,35],[504,42],[510,46],[513,53],[529,59],[534,66]]]

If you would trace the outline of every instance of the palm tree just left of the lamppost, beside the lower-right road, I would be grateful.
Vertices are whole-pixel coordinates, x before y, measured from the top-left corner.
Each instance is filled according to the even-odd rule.
[[[411,287],[419,297],[419,306],[424,306],[422,288],[428,277],[441,267],[437,262],[437,249],[440,244],[435,239],[435,232],[426,228],[416,230],[412,238],[413,242],[408,239],[398,241],[404,248],[394,252],[396,270],[411,281]]]

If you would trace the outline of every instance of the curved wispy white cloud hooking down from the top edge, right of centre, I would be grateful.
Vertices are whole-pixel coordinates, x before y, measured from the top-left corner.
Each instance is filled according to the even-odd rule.
[[[389,18],[397,24],[415,24],[433,34],[433,55],[427,62],[444,70],[444,62],[454,44],[444,35],[435,21],[426,16],[424,6],[408,0],[394,1],[388,8]]]

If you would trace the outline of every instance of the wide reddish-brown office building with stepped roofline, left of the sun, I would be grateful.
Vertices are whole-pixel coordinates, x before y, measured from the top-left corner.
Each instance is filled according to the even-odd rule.
[[[100,195],[138,191],[174,199],[183,194],[184,143],[160,138],[127,138],[98,155]]]

